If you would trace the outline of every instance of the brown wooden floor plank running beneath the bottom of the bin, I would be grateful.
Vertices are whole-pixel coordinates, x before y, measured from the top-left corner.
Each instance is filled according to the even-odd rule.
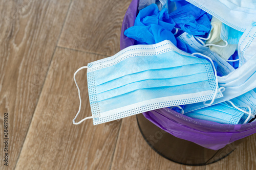
[[[136,116],[122,119],[111,169],[205,169],[205,166],[186,166],[158,155],[142,137]]]

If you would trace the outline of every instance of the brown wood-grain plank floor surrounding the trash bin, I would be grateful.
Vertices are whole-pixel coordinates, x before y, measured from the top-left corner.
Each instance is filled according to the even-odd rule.
[[[130,0],[0,1],[0,169],[256,169],[256,136],[207,166],[159,156],[141,136],[136,116],[97,126],[73,125],[79,99],[75,70],[119,48]],[[86,70],[77,75],[91,115]],[[4,113],[8,112],[8,167]]]

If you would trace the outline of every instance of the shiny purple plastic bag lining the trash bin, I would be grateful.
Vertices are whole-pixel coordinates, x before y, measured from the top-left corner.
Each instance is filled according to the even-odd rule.
[[[120,38],[121,50],[134,44],[134,40],[126,37],[123,33],[127,28],[134,26],[138,4],[139,0],[133,0],[125,13]],[[256,122],[244,125],[218,124],[187,117],[169,108],[157,109],[142,114],[169,134],[212,150],[219,150],[225,147],[226,144],[256,132]]]

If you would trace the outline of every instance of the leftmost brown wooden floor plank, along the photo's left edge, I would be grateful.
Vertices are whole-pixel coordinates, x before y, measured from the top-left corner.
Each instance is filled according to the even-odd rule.
[[[0,1],[0,122],[8,112],[8,169],[18,159],[69,5],[70,0]],[[3,131],[0,126],[1,151]]]

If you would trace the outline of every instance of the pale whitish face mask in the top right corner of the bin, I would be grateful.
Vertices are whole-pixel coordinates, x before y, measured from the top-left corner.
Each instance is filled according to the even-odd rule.
[[[244,32],[256,16],[253,0],[186,0],[223,23]]]

